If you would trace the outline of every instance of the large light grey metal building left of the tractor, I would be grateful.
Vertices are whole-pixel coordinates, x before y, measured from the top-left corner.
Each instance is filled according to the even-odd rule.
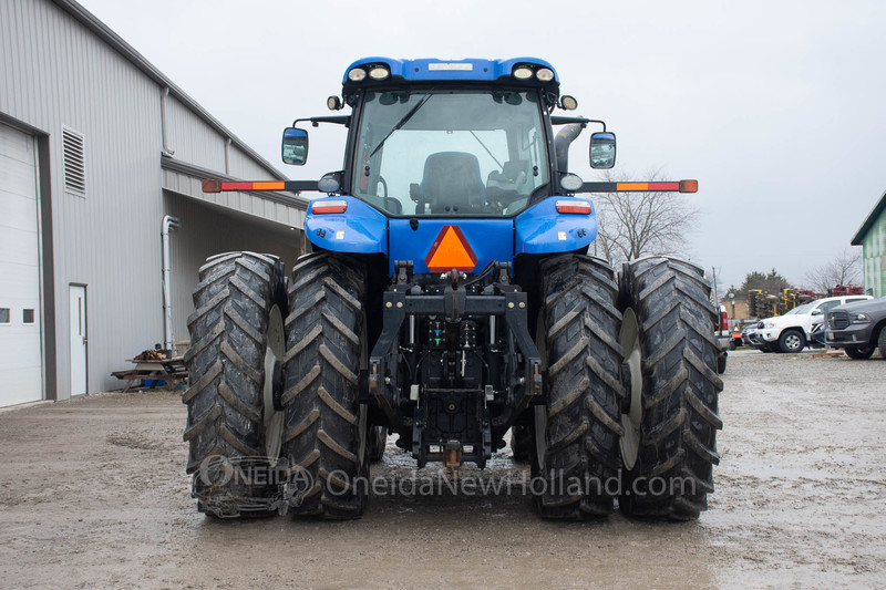
[[[187,339],[212,253],[291,268],[307,200],[208,177],[285,179],[76,2],[0,2],[0,405],[117,387],[125,359]]]

